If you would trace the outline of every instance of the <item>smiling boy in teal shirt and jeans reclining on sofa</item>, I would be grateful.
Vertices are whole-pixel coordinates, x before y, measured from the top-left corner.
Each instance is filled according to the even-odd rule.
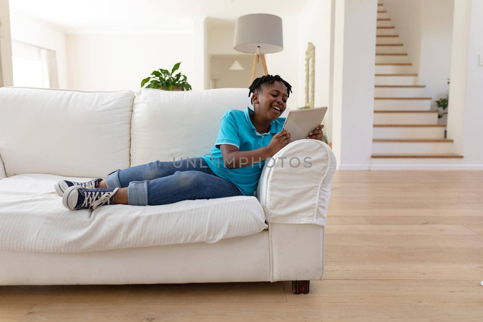
[[[220,121],[210,154],[176,162],[155,161],[115,170],[105,180],[55,184],[70,210],[109,204],[164,205],[187,199],[252,196],[265,159],[290,141],[280,115],[292,86],[279,75],[256,78],[250,85],[254,111],[228,110]],[[307,139],[322,140],[322,125]]]

